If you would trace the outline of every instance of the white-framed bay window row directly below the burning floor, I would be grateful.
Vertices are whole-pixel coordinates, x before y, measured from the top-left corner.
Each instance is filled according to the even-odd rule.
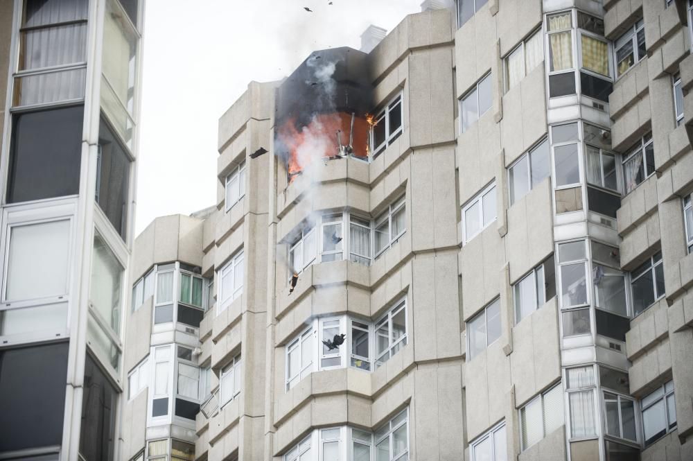
[[[349,211],[324,214],[317,218],[317,223],[305,225],[290,244],[290,270],[300,274],[313,263],[342,261],[345,257],[369,266],[405,234],[405,213],[402,196],[374,220]]]

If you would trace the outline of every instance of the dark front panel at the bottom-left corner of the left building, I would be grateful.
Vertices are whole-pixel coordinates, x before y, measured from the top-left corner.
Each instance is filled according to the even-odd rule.
[[[67,342],[0,351],[0,451],[62,444]]]

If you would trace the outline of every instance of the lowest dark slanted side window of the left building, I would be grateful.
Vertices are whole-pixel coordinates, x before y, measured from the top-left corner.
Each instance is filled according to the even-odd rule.
[[[118,394],[106,374],[87,355],[80,454],[87,461],[111,461],[115,446],[116,401]]]

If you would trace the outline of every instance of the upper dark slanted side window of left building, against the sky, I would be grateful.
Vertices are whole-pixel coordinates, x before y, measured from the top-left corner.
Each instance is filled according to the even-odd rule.
[[[129,185],[130,157],[102,118],[98,128],[96,202],[123,240],[127,229]]]

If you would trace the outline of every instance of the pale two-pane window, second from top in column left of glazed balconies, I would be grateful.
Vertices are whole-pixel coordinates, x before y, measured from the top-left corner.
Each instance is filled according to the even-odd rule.
[[[508,168],[510,204],[523,198],[550,175],[549,142],[543,139]]]

